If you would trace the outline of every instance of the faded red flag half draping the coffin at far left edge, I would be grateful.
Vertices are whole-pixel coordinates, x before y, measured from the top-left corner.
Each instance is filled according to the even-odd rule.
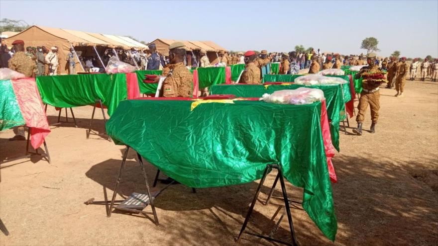
[[[38,149],[50,133],[47,116],[34,78],[11,80],[26,126],[30,128],[30,144]]]

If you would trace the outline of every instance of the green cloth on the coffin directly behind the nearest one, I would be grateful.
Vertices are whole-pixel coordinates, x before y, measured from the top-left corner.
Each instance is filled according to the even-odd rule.
[[[274,91],[282,89],[297,89],[299,87],[309,87],[321,89],[326,97],[327,116],[330,123],[331,142],[334,148],[339,151],[339,122],[340,116],[344,115],[344,104],[342,101],[342,90],[340,85],[312,85],[304,86],[301,84],[219,84],[210,88],[212,94],[232,94],[237,97],[261,97],[264,93],[272,94]]]

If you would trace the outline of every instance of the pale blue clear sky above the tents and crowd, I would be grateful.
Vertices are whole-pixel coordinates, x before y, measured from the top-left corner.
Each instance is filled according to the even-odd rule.
[[[340,54],[438,57],[438,0],[388,1],[20,1],[0,0],[0,18],[151,42],[212,40],[233,51],[287,52],[295,45]]]

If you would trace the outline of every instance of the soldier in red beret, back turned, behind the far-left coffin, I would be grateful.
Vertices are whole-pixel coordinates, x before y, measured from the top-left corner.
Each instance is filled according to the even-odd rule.
[[[26,54],[24,54],[24,41],[23,40],[15,40],[12,42],[12,45],[15,50],[15,54],[8,61],[8,68],[10,70],[16,71],[18,73],[23,74],[26,77],[35,77],[34,76],[34,68],[35,61],[29,59]],[[10,138],[9,141],[15,140],[26,140],[24,137],[24,127],[14,127],[13,131],[15,136]]]

